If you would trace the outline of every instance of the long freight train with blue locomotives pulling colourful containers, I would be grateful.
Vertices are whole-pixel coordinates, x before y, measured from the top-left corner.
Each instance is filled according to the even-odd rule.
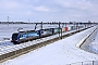
[[[22,42],[40,39],[44,37],[52,36],[56,34],[65,32],[68,30],[74,30],[77,29],[76,26],[71,27],[63,27],[63,28],[47,28],[47,29],[40,29],[40,30],[26,30],[26,31],[19,31],[14,32],[12,35],[12,42],[14,44],[20,44]]]

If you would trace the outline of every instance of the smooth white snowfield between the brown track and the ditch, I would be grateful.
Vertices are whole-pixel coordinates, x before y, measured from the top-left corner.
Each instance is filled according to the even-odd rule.
[[[84,61],[98,61],[98,55],[76,48],[76,44],[94,28],[56,41],[27,54],[9,60],[1,65],[65,65]]]

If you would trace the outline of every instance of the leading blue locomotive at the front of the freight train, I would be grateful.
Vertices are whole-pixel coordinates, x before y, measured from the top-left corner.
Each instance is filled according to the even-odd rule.
[[[32,39],[37,39],[39,38],[38,34],[39,34],[38,31],[34,31],[34,30],[14,32],[12,35],[12,42],[21,43],[21,42],[28,41]]]

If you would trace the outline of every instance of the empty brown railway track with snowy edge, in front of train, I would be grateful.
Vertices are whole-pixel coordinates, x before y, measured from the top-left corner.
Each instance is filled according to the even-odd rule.
[[[88,27],[88,28],[90,28],[90,27]],[[77,32],[83,31],[83,30],[88,29],[88,28],[83,28],[83,29],[79,29],[79,30],[73,30],[73,31],[70,31],[70,32],[65,32],[65,34],[62,35],[62,37],[54,37],[52,39],[46,39],[45,38],[46,41],[39,40],[39,42],[35,43],[35,44],[33,44],[33,43],[29,43],[29,44],[24,43],[23,46],[20,46],[20,47],[17,46],[17,48],[15,47],[14,49],[7,50],[8,51],[7,53],[0,53],[0,63],[4,62],[7,60],[17,57],[17,56],[20,56],[22,54],[28,53],[28,52],[30,52],[33,50],[45,47],[45,46],[50,44],[50,43],[52,43],[54,41],[66,38],[69,36],[72,36],[74,34],[77,34]]]

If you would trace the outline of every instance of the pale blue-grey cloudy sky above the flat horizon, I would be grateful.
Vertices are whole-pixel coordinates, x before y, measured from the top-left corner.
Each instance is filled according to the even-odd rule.
[[[0,0],[0,21],[97,22],[98,0]]]

